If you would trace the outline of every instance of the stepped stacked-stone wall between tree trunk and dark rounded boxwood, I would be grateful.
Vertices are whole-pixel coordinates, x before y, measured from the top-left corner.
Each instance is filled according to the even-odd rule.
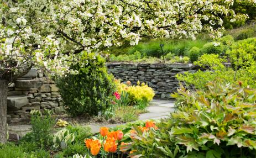
[[[29,119],[30,110],[53,109],[63,113],[61,96],[54,81],[43,72],[30,70],[22,78],[9,85],[7,97],[8,122],[15,123]]]

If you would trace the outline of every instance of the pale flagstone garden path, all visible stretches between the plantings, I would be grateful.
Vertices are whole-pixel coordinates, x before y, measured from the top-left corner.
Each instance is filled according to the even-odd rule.
[[[170,112],[174,112],[174,101],[153,99],[150,103],[151,106],[147,107],[148,113],[140,114],[139,120],[162,119],[167,118]],[[116,127],[122,124],[107,124],[106,127]],[[89,124],[93,133],[97,133],[102,127],[102,124]],[[30,131],[31,125],[11,125],[8,130],[12,133],[24,136]]]

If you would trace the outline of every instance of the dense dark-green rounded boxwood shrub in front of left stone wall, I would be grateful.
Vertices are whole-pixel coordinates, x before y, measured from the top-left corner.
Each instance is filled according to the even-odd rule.
[[[108,75],[105,60],[98,55],[88,54],[80,57],[70,69],[77,74],[67,73],[56,80],[67,113],[77,115],[98,115],[111,104],[115,85],[113,76]]]

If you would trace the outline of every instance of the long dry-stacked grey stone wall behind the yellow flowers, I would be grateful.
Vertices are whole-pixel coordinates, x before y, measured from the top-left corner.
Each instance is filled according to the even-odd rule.
[[[155,97],[170,98],[170,93],[179,88],[177,73],[196,72],[200,67],[192,64],[127,64],[108,63],[108,72],[122,81],[147,82],[155,91]]]

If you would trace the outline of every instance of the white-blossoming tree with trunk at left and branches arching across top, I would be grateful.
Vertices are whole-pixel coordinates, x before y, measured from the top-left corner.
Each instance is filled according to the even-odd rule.
[[[220,36],[232,0],[2,0],[0,24],[0,143],[7,141],[8,84],[32,67],[59,75],[83,53],[142,37]]]

